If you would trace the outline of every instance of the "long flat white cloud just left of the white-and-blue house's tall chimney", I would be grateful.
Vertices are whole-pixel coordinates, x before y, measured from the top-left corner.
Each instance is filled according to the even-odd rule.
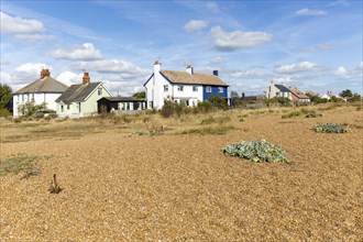
[[[95,62],[81,62],[74,66],[75,69],[98,72],[105,74],[122,74],[127,76],[144,75],[146,70],[134,64],[120,59],[101,59]],[[148,72],[147,72],[148,73]]]

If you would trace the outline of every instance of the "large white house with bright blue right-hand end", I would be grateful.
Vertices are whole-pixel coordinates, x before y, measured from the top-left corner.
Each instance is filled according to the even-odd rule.
[[[213,70],[213,75],[196,74],[190,65],[186,72],[162,70],[162,64],[155,62],[154,73],[144,87],[148,109],[161,109],[165,100],[193,107],[208,100],[211,95],[224,98],[230,103],[229,86],[219,78],[218,70]]]

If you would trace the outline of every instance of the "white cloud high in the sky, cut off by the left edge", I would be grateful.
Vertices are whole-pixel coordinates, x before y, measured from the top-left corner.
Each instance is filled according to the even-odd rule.
[[[0,12],[1,34],[34,34],[45,31],[42,22],[11,16]]]

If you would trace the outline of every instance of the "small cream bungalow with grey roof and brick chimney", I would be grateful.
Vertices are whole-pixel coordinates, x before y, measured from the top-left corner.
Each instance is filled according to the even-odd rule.
[[[82,84],[72,85],[56,99],[59,117],[80,118],[98,112],[97,101],[111,97],[102,82],[90,82],[88,73],[84,74]]]

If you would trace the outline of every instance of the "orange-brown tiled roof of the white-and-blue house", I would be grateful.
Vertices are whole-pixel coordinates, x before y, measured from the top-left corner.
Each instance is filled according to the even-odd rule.
[[[224,86],[228,85],[222,81],[218,76],[207,74],[193,74],[176,70],[161,70],[161,74],[169,79],[173,84],[191,84],[191,85],[210,85],[210,86]]]

